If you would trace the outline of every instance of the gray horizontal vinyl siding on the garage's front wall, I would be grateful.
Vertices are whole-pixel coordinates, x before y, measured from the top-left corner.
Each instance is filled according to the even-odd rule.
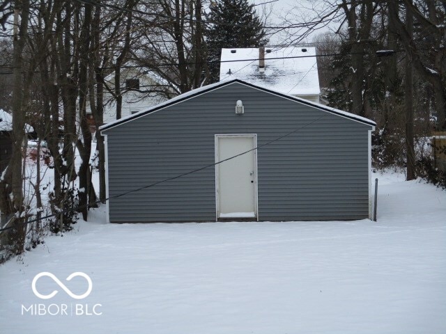
[[[261,220],[365,218],[369,129],[234,83],[105,130],[109,196],[213,164],[215,134],[257,134]],[[109,214],[116,223],[213,221],[215,168],[112,198]]]

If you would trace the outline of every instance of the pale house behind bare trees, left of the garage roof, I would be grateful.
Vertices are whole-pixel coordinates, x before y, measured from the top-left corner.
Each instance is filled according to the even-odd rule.
[[[114,91],[114,74],[105,77],[105,84]],[[167,84],[151,71],[130,64],[121,70],[121,94],[123,96],[121,117],[130,116],[143,109],[148,109],[167,100],[162,90],[168,90]],[[104,89],[104,124],[116,120],[116,99]],[[87,102],[87,119],[95,130],[95,123],[89,102]]]

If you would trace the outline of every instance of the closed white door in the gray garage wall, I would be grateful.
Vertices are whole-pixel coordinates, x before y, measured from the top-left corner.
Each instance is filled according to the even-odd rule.
[[[215,162],[223,161],[215,166],[217,218],[257,217],[254,148],[255,134],[215,136]],[[244,152],[247,153],[241,154]],[[238,154],[241,155],[235,157]]]

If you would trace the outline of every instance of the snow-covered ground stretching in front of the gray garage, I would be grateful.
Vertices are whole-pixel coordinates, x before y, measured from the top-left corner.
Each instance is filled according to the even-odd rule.
[[[446,333],[446,191],[374,177],[376,223],[113,225],[97,209],[0,267],[0,333]],[[88,281],[66,278],[86,273],[91,293],[43,276],[36,292],[58,293],[39,299],[44,271],[77,295]]]

